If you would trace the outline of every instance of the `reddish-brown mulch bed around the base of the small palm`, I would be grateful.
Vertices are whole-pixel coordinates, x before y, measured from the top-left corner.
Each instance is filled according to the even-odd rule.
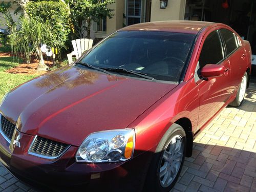
[[[0,53],[0,57],[11,57],[12,52],[4,52]],[[35,55],[32,56],[31,62],[28,64],[26,62],[20,63],[17,67],[6,70],[7,73],[14,73],[14,74],[44,74],[47,73],[47,71],[39,71],[36,70],[38,66],[39,60],[35,58]],[[52,67],[52,61],[45,60],[45,63],[47,66]]]

